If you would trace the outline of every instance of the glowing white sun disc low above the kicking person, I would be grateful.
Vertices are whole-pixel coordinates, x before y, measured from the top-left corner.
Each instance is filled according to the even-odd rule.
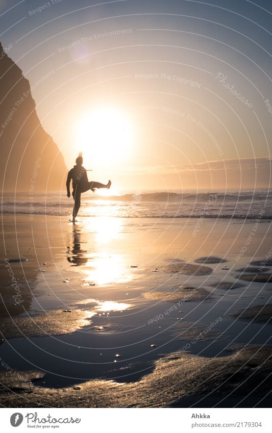
[[[87,110],[76,124],[77,147],[97,165],[119,165],[131,155],[134,128],[129,116],[116,107]]]

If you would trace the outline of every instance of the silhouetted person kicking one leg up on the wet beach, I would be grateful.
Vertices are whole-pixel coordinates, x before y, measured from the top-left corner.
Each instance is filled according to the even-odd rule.
[[[96,188],[107,188],[109,189],[111,186],[111,181],[109,181],[106,185],[101,184],[100,182],[89,182],[87,176],[87,170],[82,166],[83,157],[80,153],[78,158],[76,159],[76,165],[71,168],[67,175],[66,188],[67,188],[67,197],[70,197],[70,183],[72,180],[72,196],[75,200],[75,205],[73,207],[73,218],[72,221],[76,221],[76,217],[80,208],[81,194],[88,190],[95,192]]]

